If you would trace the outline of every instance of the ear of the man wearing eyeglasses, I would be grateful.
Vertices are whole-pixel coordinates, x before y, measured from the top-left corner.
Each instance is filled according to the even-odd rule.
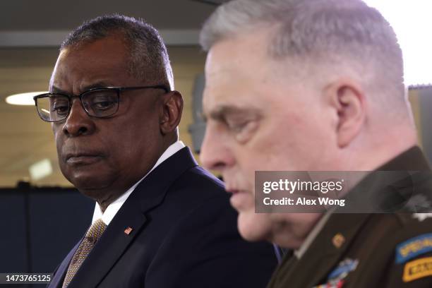
[[[160,107],[160,131],[166,135],[179,126],[183,112],[183,97],[178,91],[171,91],[162,95]]]

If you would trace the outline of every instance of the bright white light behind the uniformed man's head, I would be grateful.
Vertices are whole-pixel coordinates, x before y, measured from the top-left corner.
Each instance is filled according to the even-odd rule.
[[[432,1],[364,0],[395,29],[404,53],[405,85],[432,85]]]

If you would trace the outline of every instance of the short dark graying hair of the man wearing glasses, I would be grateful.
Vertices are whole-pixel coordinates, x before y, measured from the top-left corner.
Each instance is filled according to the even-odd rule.
[[[129,52],[128,72],[138,80],[174,89],[167,47],[159,32],[145,20],[119,14],[88,20],[66,37],[60,51],[119,34]],[[162,83],[161,83],[162,82]]]

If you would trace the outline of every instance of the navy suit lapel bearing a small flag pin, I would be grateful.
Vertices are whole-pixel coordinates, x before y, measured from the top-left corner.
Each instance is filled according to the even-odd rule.
[[[97,287],[133,239],[145,228],[148,222],[146,212],[163,203],[175,179],[196,165],[191,151],[183,148],[148,174],[109,223],[68,288]],[[129,234],[125,232],[128,227],[132,228]]]

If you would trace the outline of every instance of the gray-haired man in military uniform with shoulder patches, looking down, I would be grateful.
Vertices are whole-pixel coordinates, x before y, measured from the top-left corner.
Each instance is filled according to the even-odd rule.
[[[360,0],[233,0],[200,39],[203,165],[222,173],[245,239],[294,250],[269,287],[432,287],[432,174],[383,16]],[[361,205],[293,213],[268,182],[284,198],[257,213],[274,193],[260,171],[352,172],[336,200]]]

